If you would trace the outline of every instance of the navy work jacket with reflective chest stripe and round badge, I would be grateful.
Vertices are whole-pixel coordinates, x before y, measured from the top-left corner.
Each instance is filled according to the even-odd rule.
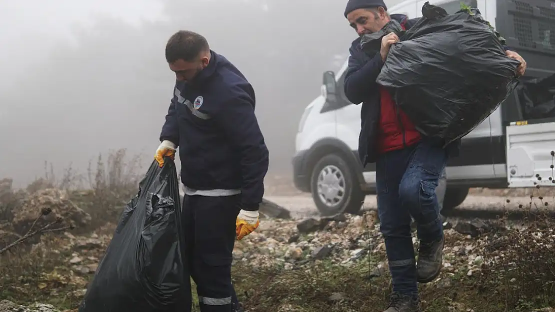
[[[249,81],[223,55],[191,81],[176,81],[160,141],[179,147],[181,182],[195,190],[240,189],[242,208],[264,195],[268,148]]]

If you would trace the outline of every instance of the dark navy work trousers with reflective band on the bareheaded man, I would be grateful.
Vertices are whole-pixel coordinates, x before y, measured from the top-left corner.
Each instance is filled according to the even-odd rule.
[[[196,284],[201,312],[235,312],[238,300],[231,284],[235,221],[241,195],[185,195],[185,255]],[[189,279],[187,279],[189,280]]]

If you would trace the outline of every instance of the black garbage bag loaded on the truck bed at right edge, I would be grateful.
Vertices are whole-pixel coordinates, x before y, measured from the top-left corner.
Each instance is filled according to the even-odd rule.
[[[555,74],[522,81],[516,88],[524,119],[555,117]]]

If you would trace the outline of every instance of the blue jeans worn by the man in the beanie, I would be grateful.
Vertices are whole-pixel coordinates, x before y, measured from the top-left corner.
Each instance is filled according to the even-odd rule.
[[[441,239],[443,227],[436,197],[447,153],[442,142],[425,138],[376,161],[376,191],[380,230],[384,235],[393,291],[417,295],[411,216],[421,241]]]

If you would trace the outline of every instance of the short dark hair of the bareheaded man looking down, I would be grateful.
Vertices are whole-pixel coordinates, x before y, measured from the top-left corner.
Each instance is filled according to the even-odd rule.
[[[185,62],[193,62],[200,52],[209,49],[208,41],[203,36],[189,30],[179,30],[171,35],[166,44],[166,61],[174,63],[182,59]]]

